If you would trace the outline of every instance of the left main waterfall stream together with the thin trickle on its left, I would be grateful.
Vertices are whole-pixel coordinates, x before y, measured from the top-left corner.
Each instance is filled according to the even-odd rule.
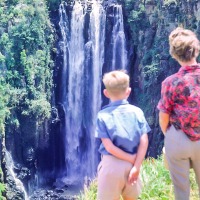
[[[65,6],[60,5],[60,30],[62,34],[61,48],[63,66],[61,73],[60,102],[64,112],[65,133],[65,171],[62,181],[67,184],[80,182],[80,135],[83,118],[83,72],[84,72],[84,20],[82,5],[76,1],[71,15],[70,25]],[[68,31],[70,30],[70,32]],[[69,34],[70,33],[70,34]]]

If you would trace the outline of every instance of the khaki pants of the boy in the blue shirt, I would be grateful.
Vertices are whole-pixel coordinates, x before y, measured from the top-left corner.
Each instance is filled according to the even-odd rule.
[[[103,155],[98,166],[98,200],[119,200],[124,198],[137,199],[142,185],[138,178],[133,185],[128,183],[128,175],[132,164],[111,155]]]

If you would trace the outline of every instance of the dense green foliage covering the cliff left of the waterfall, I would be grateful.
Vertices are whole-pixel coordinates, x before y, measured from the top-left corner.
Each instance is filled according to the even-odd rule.
[[[53,2],[53,1],[52,1]],[[53,31],[46,2],[0,1],[0,133],[50,116]]]

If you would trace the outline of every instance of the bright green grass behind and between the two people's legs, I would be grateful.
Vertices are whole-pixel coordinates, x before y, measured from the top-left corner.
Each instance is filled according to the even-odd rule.
[[[174,200],[173,187],[169,171],[164,167],[163,156],[158,159],[148,158],[143,162],[141,170],[143,181],[142,194],[140,200]],[[191,200],[199,200],[198,186],[195,181],[193,170],[190,173]],[[84,191],[77,197],[77,200],[96,200],[97,181],[92,180],[89,186],[85,186]]]

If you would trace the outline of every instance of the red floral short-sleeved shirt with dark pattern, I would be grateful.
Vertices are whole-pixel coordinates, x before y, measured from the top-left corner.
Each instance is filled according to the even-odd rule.
[[[170,124],[192,140],[200,140],[200,65],[181,67],[162,82],[157,108],[170,115]]]

